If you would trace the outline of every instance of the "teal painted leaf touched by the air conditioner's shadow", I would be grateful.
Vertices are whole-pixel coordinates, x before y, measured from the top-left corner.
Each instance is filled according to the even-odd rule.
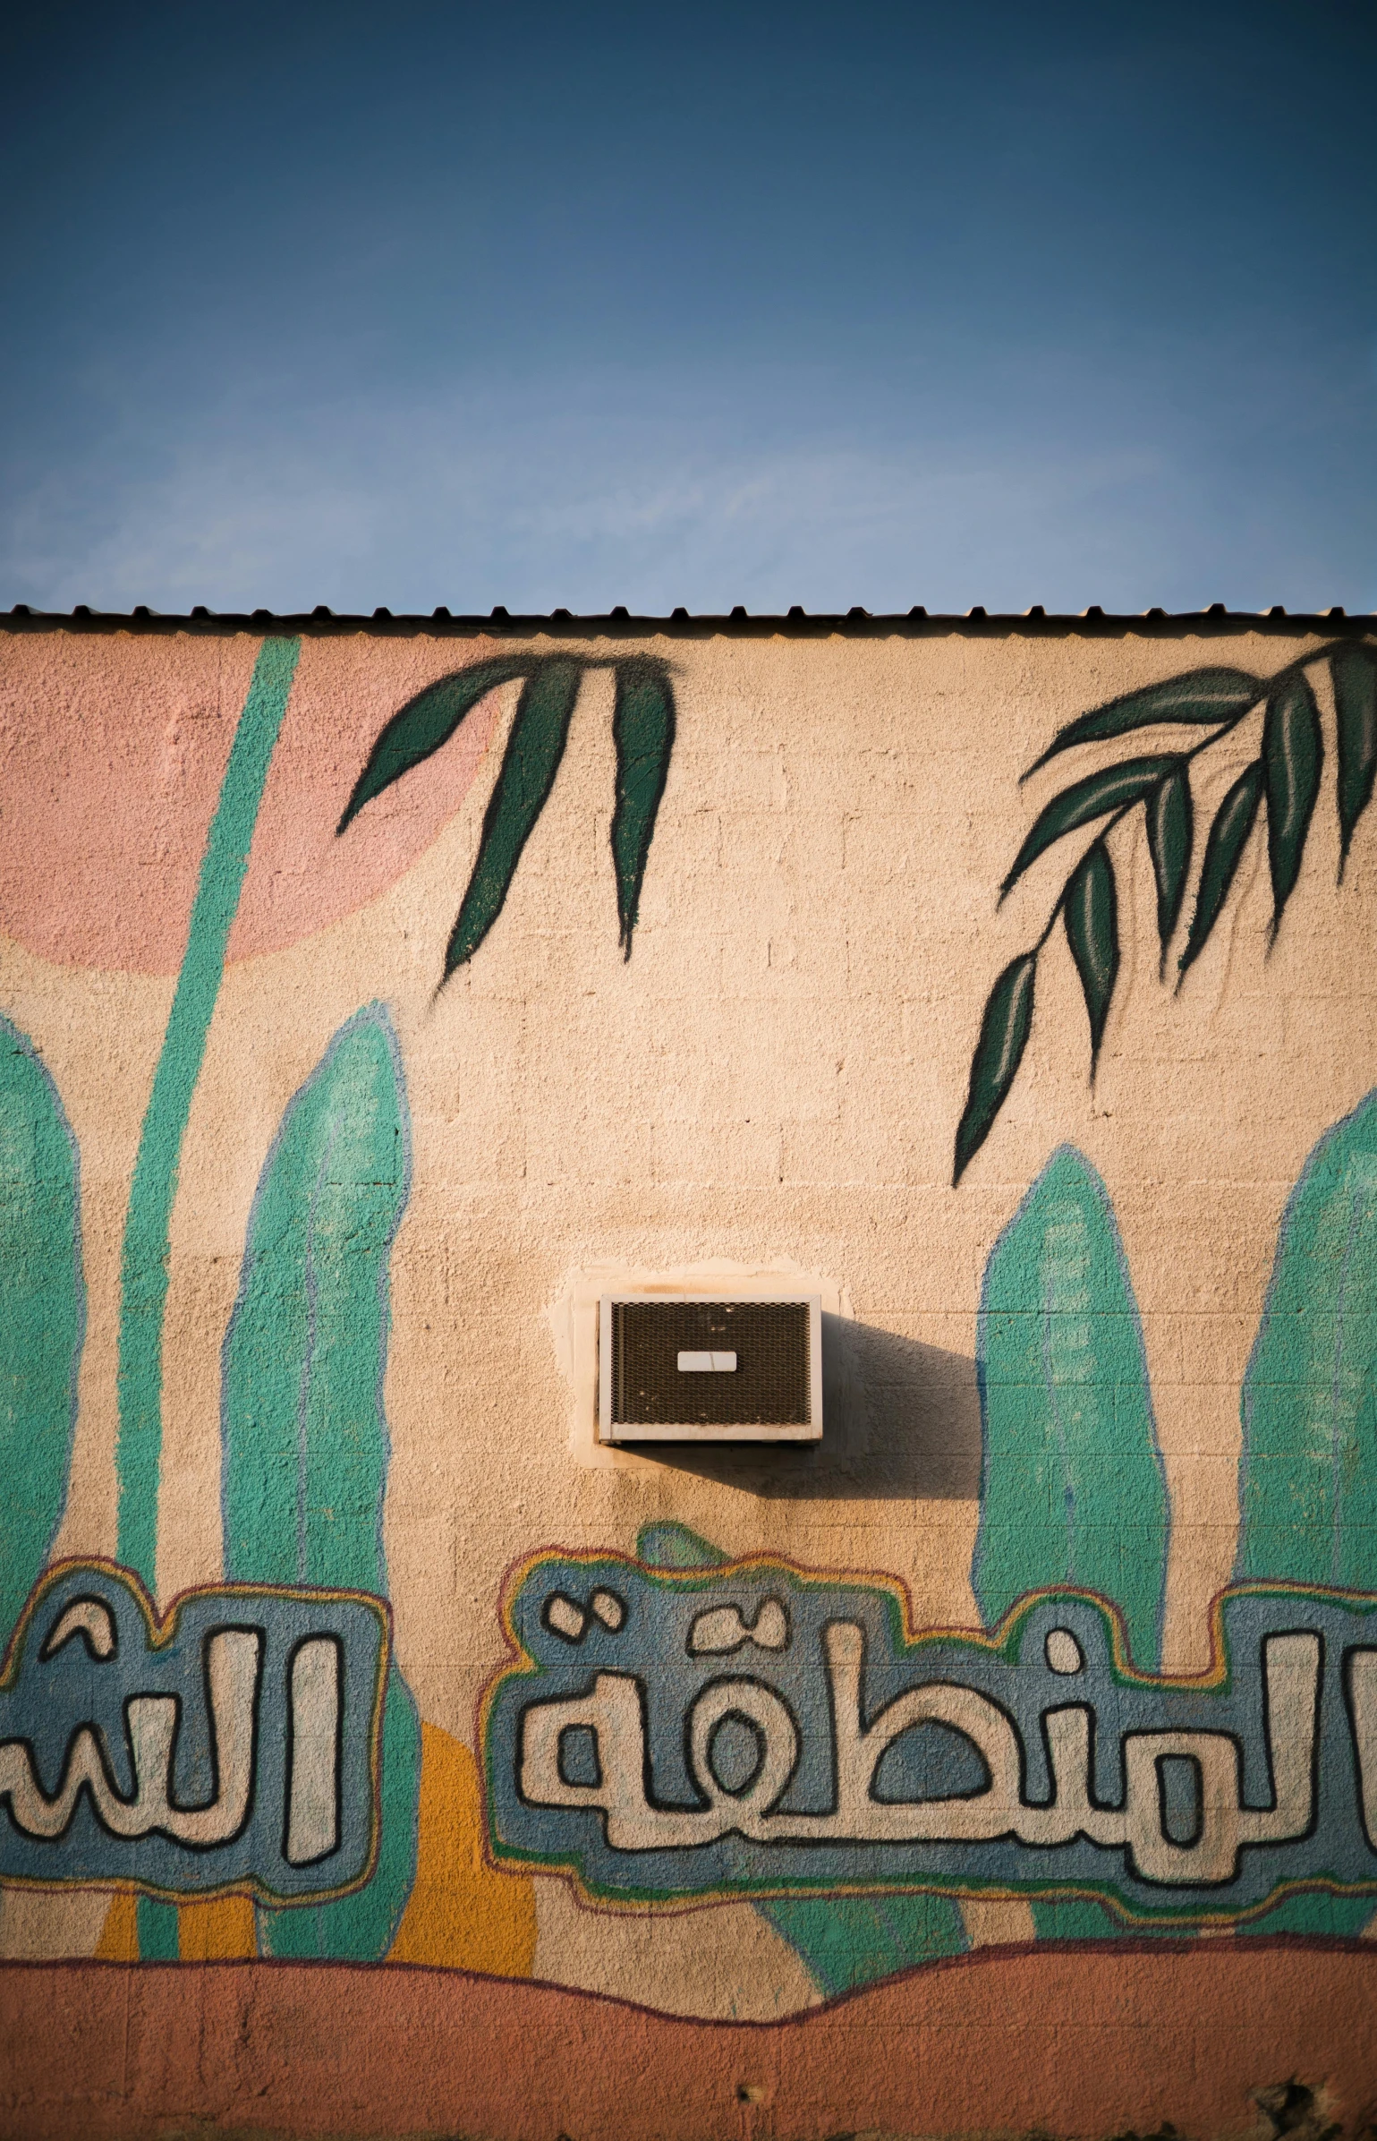
[[[987,1627],[1045,1584],[1111,1599],[1156,1668],[1169,1507],[1137,1297],[1105,1184],[1062,1145],[989,1252],[970,1580]]]

